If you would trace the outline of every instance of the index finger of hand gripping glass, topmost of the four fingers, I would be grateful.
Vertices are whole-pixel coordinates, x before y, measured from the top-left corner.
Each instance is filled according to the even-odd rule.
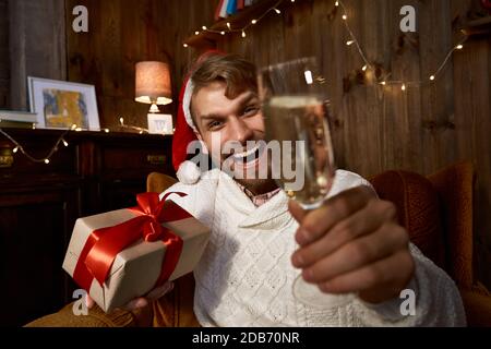
[[[309,244],[333,228],[338,221],[363,208],[370,200],[375,198],[373,191],[360,185],[327,200],[323,206],[309,212],[295,236],[298,244]]]

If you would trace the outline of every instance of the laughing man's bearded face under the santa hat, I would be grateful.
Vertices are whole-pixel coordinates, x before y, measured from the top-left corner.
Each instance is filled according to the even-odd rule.
[[[259,161],[262,153],[251,147],[251,141],[263,141],[264,121],[258,95],[246,91],[233,99],[225,96],[226,84],[213,82],[192,98],[193,116],[199,137],[212,154],[215,163],[232,170],[233,178],[252,192],[271,184],[270,179],[259,179],[260,166],[270,166],[268,161]],[[249,148],[248,146],[249,143]],[[251,176],[251,173],[254,173]]]

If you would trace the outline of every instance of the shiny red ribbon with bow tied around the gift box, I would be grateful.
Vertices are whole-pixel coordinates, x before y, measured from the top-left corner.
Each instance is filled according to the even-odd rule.
[[[139,205],[129,208],[136,213],[137,217],[112,227],[94,230],[79,256],[73,279],[87,291],[94,278],[103,286],[117,254],[143,238],[147,242],[161,240],[166,245],[160,276],[155,286],[168,280],[179,262],[183,242],[179,236],[161,224],[192,217],[172,201],[166,201],[170,194],[178,194],[181,197],[187,195],[170,192],[160,201],[157,193],[137,194]]]

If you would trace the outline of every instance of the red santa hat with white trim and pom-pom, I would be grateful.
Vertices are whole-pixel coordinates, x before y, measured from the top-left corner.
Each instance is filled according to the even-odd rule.
[[[200,56],[194,69],[206,58],[213,55],[225,55],[218,50],[209,50]],[[197,142],[197,129],[191,117],[191,97],[193,95],[193,82],[191,79],[193,70],[184,79],[179,94],[179,109],[176,121],[176,131],[172,139],[172,165],[176,169],[177,178],[184,184],[194,184],[201,178],[201,170],[195,163],[188,160],[188,145]],[[202,144],[204,147],[204,144]]]

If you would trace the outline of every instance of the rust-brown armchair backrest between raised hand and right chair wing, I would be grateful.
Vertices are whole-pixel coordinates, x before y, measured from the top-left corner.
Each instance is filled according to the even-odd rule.
[[[399,224],[410,240],[438,266],[445,268],[445,244],[440,198],[423,176],[402,170],[385,171],[371,180],[376,193],[397,207]]]

